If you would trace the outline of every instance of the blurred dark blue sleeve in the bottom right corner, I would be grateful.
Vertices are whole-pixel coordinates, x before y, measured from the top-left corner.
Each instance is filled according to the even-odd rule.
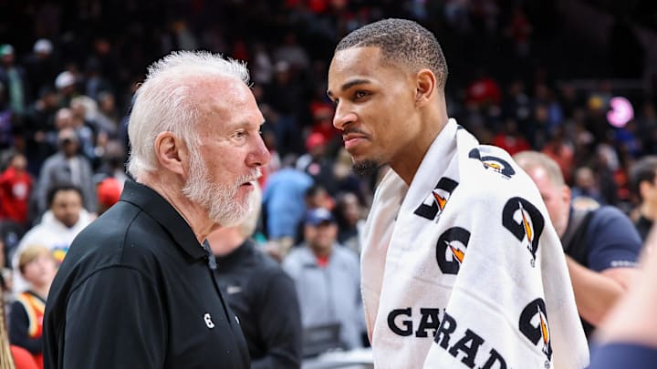
[[[657,349],[633,343],[610,343],[593,352],[589,369],[652,369]]]

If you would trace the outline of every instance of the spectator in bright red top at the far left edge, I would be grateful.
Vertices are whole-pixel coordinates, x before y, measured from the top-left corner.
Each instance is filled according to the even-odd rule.
[[[9,157],[7,169],[0,173],[0,220],[27,225],[27,206],[33,181],[27,172],[25,155],[15,152]]]

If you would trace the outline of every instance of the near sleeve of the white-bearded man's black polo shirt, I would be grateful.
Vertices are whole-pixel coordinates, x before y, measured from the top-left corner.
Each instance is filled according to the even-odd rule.
[[[68,298],[63,367],[162,368],[168,327],[156,286],[125,266],[81,282]]]

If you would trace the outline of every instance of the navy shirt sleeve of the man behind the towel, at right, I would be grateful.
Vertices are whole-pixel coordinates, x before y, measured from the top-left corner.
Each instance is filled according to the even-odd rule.
[[[610,206],[596,210],[587,236],[591,270],[601,272],[636,265],[641,253],[641,237],[620,210]]]

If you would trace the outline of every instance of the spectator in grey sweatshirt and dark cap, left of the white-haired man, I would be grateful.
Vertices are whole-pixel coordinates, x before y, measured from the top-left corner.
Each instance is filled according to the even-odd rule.
[[[61,183],[72,183],[81,191],[82,205],[96,211],[96,190],[89,159],[80,155],[79,138],[73,128],[63,128],[57,134],[59,150],[44,162],[39,173],[37,203],[39,212],[47,209],[47,190]]]

